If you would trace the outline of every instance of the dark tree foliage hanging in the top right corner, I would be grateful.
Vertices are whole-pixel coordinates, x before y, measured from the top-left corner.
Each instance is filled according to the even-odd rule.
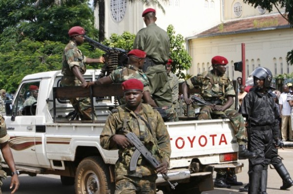
[[[269,12],[275,7],[278,12],[285,18],[291,27],[293,27],[293,0],[243,0],[245,3],[251,4],[254,7],[261,6]],[[281,13],[280,8],[285,7],[285,12]],[[290,65],[293,65],[293,50],[289,51],[286,60]]]

